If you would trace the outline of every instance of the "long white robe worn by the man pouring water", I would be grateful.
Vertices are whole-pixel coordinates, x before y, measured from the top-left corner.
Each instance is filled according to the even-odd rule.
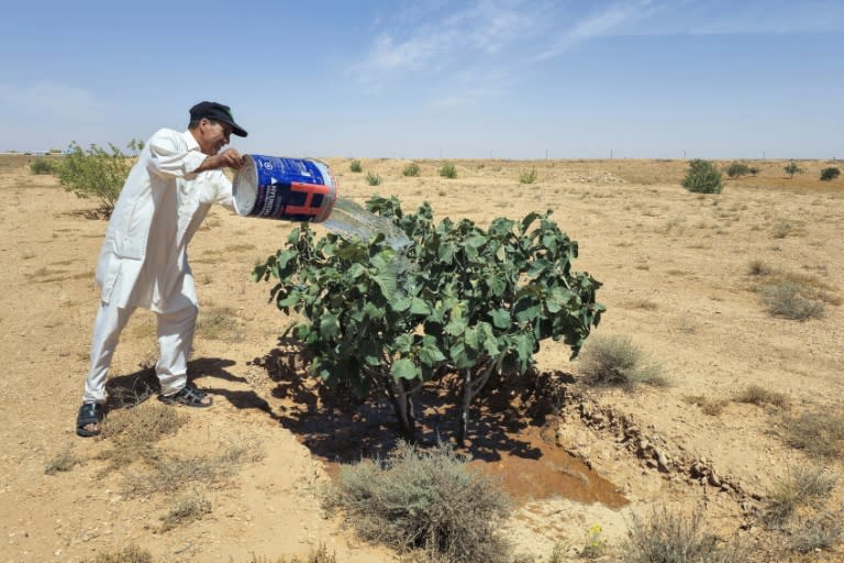
[[[189,131],[149,139],[106,231],[97,264],[103,303],[155,312],[197,306],[188,243],[211,205],[234,210],[222,170],[193,172],[207,157]]]

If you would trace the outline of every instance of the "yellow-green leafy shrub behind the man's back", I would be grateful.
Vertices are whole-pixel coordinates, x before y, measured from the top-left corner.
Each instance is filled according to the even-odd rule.
[[[134,147],[136,142],[130,143]],[[67,191],[77,197],[99,200],[98,212],[111,217],[123,183],[126,181],[132,161],[116,146],[109,144],[109,151],[90,145],[86,151],[70,143],[67,155],[56,174]]]

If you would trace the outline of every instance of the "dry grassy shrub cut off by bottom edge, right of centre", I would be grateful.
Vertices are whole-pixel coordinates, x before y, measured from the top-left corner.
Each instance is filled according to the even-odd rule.
[[[741,563],[747,549],[736,539],[721,543],[703,529],[702,510],[692,516],[654,508],[649,518],[633,517],[629,538],[621,548],[624,563]]]

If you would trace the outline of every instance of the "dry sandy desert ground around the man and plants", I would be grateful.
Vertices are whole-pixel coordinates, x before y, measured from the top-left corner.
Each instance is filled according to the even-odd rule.
[[[167,532],[160,518],[173,507],[171,495],[126,494],[126,479],[143,467],[103,472],[96,456],[108,440],[79,439],[73,423],[106,222],[86,219],[92,203],[49,176],[30,174],[29,161],[0,157],[0,561],[90,561],[135,544],[166,561],[245,562],[252,553],[301,555],[321,543],[340,562],[392,561],[389,551],[355,541],[321,512],[330,442],[290,423],[288,415],[302,406],[285,391],[280,364],[270,365],[287,319],[267,305],[268,285],[253,284],[249,273],[282,244],[291,228],[282,222],[216,209],[197,234],[190,255],[206,324],[191,375],[216,394],[216,405],[185,412],[188,423],[165,443],[169,452],[209,455],[248,443],[263,456],[218,483],[186,483],[210,500],[211,514]],[[608,312],[598,333],[631,336],[670,377],[667,388],[574,398],[559,419],[524,431],[521,445],[542,452],[540,459],[501,451],[486,463],[511,477],[518,503],[507,532],[519,552],[547,559],[563,542],[575,553],[596,523],[602,540],[615,544],[634,514],[662,505],[704,510],[708,526],[729,536],[748,523],[748,510],[777,478],[806,463],[777,438],[779,412],[729,399],[756,384],[786,394],[792,413],[841,409],[842,307],[828,305],[824,317],[806,322],[771,317],[748,273],[758,260],[814,276],[841,296],[844,181],[815,179],[826,163],[803,163],[807,174],[793,179],[782,178],[782,163],[757,163],[756,178],[728,181],[720,196],[697,196],[679,186],[687,165],[679,161],[458,161],[458,177],[445,179],[438,162],[422,162],[421,177],[406,178],[406,162],[364,159],[364,173],[384,178],[377,187],[348,172],[348,161],[329,162],[341,195],[358,202],[376,192],[397,195],[406,210],[415,210],[427,200],[437,219],[468,217],[482,225],[553,209],[580,243],[575,268],[604,284],[599,300]],[[521,185],[520,173],[531,167],[537,181]],[[143,380],[154,357],[154,318],[138,311],[118,349],[110,388]],[[577,374],[562,344],[547,345],[540,366]],[[708,415],[690,396],[725,405]],[[320,423],[316,412],[304,410]],[[346,435],[349,451],[366,439]],[[67,448],[85,463],[46,475]],[[521,474],[545,487],[525,493],[512,479]],[[579,496],[574,482],[586,483]],[[758,531],[751,526],[743,533]]]

